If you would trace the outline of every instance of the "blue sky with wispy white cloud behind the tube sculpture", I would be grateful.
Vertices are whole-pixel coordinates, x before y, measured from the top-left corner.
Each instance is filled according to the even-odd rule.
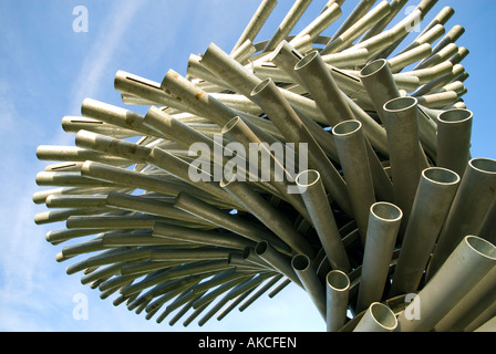
[[[80,274],[65,274],[55,262],[61,246],[44,236],[54,225],[37,226],[44,211],[32,202],[40,190],[35,174],[46,165],[35,157],[39,145],[74,145],[61,128],[65,115],[80,115],[85,97],[124,106],[113,87],[117,70],[161,82],[168,69],[185,74],[189,54],[204,52],[210,42],[230,51],[259,6],[259,0],[2,0],[0,1],[0,144],[3,166],[0,223],[0,331],[323,331],[310,299],[287,288],[276,299],[257,301],[205,326],[184,329],[156,324],[143,314],[113,306],[99,291],[80,283]],[[257,40],[269,39],[293,1],[279,0]],[[327,1],[314,0],[294,33],[308,24]],[[356,1],[347,0],[348,14]],[[414,6],[417,1],[410,1]],[[89,31],[74,32],[73,9],[89,11]],[[463,61],[469,73],[464,96],[474,112],[474,157],[496,158],[495,81],[496,39],[492,0],[440,0],[423,24],[443,7],[455,15],[446,28],[466,29],[457,44],[469,49]],[[344,17],[343,17],[344,18]],[[343,18],[323,34],[332,34]],[[256,40],[256,41],[257,41]],[[407,41],[405,41],[407,43]],[[134,108],[134,107],[131,107]],[[136,111],[143,107],[136,107]],[[89,319],[76,321],[73,299],[85,294]]]

